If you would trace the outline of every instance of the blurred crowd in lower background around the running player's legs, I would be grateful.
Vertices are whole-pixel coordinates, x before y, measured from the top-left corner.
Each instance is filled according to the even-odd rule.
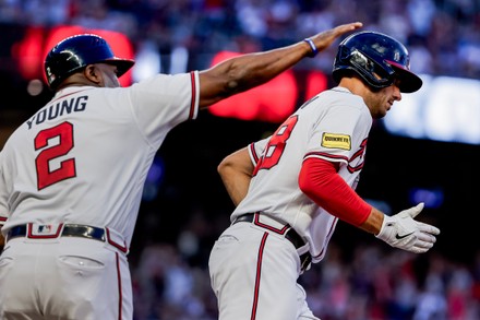
[[[480,319],[480,257],[467,266],[383,245],[357,246],[347,260],[341,250],[334,241],[325,260],[300,276],[322,320]],[[137,320],[217,319],[208,271],[189,265],[171,245],[145,248],[133,278]]]

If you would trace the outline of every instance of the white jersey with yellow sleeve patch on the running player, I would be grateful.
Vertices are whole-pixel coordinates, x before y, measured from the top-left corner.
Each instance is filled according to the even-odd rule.
[[[300,190],[302,163],[310,157],[336,162],[355,189],[371,126],[362,98],[347,88],[334,87],[307,102],[271,138],[250,145],[254,177],[231,221],[254,212],[276,217],[308,240],[313,262],[322,260],[337,218]]]

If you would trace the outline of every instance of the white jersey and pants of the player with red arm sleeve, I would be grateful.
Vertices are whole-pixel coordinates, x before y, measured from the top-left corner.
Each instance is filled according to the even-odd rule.
[[[300,190],[299,173],[310,157],[334,162],[355,189],[371,126],[362,98],[334,87],[249,146],[255,165],[249,192],[211,253],[219,319],[317,319],[297,280],[325,257],[337,217]]]

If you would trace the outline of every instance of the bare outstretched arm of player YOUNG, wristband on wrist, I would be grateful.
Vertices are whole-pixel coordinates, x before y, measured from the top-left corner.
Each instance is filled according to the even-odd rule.
[[[200,72],[200,108],[206,108],[231,95],[261,85],[293,67],[305,57],[323,51],[341,35],[360,28],[360,22],[343,24],[297,44],[223,61]]]

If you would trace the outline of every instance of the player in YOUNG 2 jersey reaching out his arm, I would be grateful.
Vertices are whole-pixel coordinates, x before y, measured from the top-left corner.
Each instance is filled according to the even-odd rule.
[[[45,60],[52,99],[0,153],[1,319],[132,319],[127,253],[145,177],[177,125],[265,83],[361,23],[208,70],[120,87],[134,63],[93,34]]]

